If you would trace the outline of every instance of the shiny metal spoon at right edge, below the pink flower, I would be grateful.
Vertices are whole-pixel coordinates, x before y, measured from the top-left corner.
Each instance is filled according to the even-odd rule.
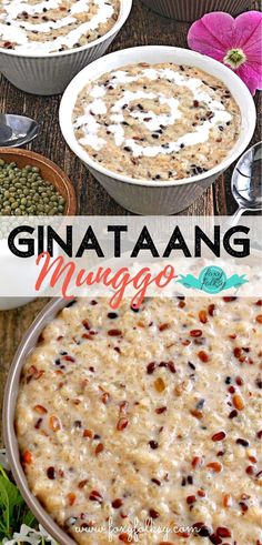
[[[238,224],[243,212],[262,210],[262,142],[250,148],[239,160],[232,175],[232,194],[239,204],[230,218]]]

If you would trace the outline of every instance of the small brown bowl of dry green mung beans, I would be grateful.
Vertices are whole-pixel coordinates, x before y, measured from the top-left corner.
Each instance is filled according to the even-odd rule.
[[[67,174],[32,151],[0,148],[0,216],[75,215]]]

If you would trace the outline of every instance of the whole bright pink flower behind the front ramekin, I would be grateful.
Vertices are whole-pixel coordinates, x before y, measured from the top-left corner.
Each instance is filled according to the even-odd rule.
[[[248,11],[234,19],[208,13],[189,30],[189,47],[231,68],[251,93],[262,89],[262,13]]]

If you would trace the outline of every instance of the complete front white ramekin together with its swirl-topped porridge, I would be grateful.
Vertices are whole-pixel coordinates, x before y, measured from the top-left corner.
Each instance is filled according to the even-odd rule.
[[[71,150],[117,202],[143,215],[192,204],[244,151],[255,118],[248,88],[229,68],[165,46],[99,59],[60,105]]]

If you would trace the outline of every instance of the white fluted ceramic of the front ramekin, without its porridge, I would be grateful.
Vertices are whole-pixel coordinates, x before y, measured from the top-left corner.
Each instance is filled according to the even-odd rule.
[[[95,80],[105,72],[137,62],[152,64],[174,62],[193,65],[205,70],[226,84],[241,110],[242,128],[236,144],[218,166],[204,174],[183,180],[167,182],[133,180],[95,163],[78,143],[71,119],[80,91],[90,80]],[[61,131],[68,145],[81,159],[94,178],[119,204],[131,212],[143,215],[173,214],[192,204],[215,181],[221,172],[228,169],[245,150],[253,135],[256,120],[254,101],[250,91],[229,68],[210,57],[194,51],[165,46],[147,46],[115,51],[93,62],[83,69],[69,84],[62,97],[59,117]]]

